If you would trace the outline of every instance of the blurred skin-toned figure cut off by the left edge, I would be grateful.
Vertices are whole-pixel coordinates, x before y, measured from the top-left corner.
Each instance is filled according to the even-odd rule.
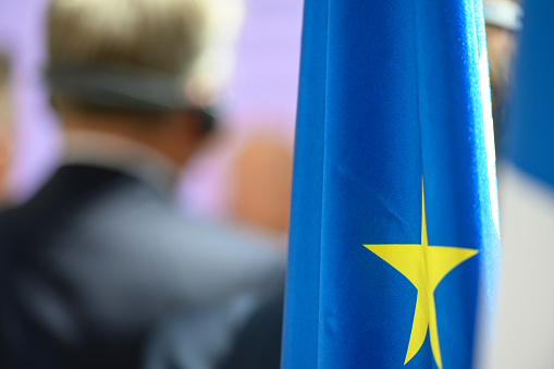
[[[0,53],[0,207],[8,197],[10,159],[12,152],[12,107],[10,94],[10,63]]]

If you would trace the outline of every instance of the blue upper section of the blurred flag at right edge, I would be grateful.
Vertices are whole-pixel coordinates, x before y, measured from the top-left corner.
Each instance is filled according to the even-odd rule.
[[[554,187],[554,2],[525,3],[525,27],[507,126],[508,159]]]

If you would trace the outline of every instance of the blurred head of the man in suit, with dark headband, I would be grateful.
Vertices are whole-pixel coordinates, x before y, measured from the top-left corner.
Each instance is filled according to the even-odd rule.
[[[201,101],[185,94],[205,16],[202,0],[53,0],[47,73],[63,128],[122,135],[184,164],[206,136]]]

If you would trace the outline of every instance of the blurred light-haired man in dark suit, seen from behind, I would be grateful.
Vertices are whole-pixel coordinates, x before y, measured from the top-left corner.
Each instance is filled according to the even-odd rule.
[[[64,159],[0,213],[2,367],[137,368],[177,316],[190,344],[180,362],[214,368],[282,296],[284,262],[262,237],[184,218],[170,200],[214,127],[195,64],[208,17],[207,0],[51,2]]]

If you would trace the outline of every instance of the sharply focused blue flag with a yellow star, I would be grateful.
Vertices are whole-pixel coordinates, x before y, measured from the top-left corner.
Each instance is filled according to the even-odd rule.
[[[306,0],[283,368],[470,368],[500,261],[481,0]]]

